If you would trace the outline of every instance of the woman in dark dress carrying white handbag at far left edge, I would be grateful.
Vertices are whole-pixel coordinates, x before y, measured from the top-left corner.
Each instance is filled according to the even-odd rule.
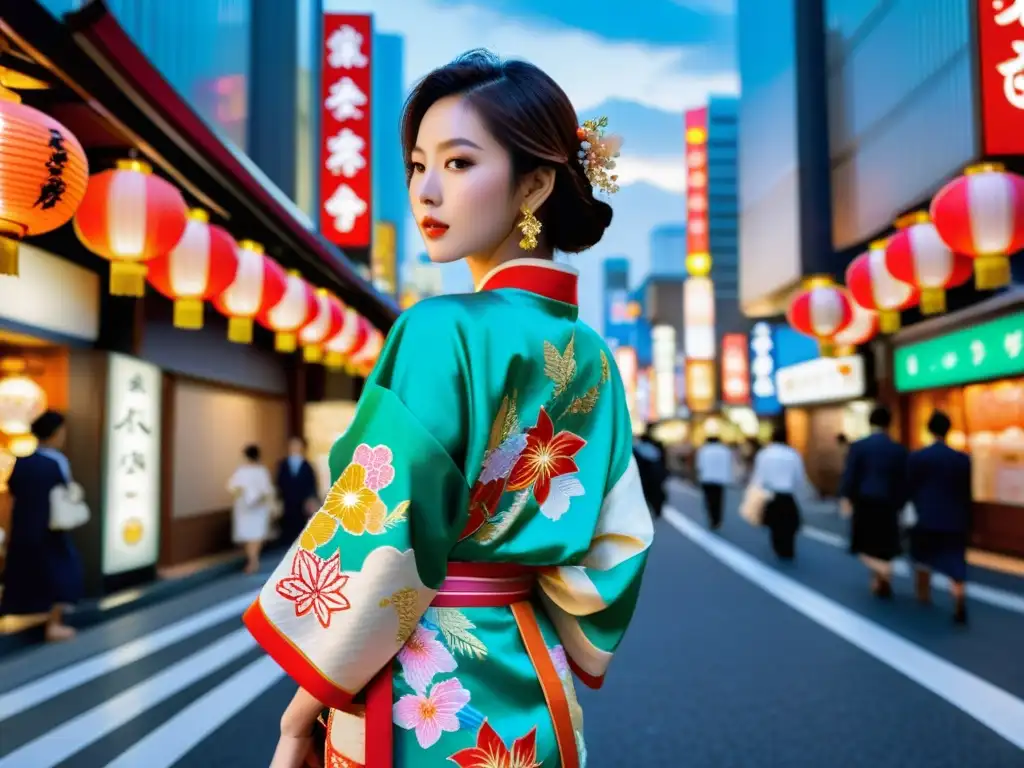
[[[50,528],[50,492],[72,481],[61,452],[65,418],[47,411],[32,425],[39,447],[18,459],[7,481],[14,499],[0,614],[48,613],[47,642],[71,640],[63,613],[82,597],[82,561],[65,530]]]

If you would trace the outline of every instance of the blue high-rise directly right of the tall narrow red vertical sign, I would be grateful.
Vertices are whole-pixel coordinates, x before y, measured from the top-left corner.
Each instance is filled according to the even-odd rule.
[[[735,97],[712,96],[708,101],[708,241],[720,337],[744,330],[738,306],[738,114]]]

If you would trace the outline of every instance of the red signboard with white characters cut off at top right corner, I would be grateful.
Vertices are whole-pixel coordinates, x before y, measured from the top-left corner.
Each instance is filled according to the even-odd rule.
[[[982,155],[1024,154],[1024,0],[978,0]]]

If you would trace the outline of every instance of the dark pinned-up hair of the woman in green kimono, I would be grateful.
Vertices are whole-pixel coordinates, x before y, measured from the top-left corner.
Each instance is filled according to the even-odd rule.
[[[401,118],[407,182],[412,178],[411,155],[423,116],[447,96],[462,96],[473,105],[492,135],[512,155],[515,178],[544,166],[555,169],[554,188],[535,211],[549,246],[579,253],[601,240],[611,223],[611,206],[594,197],[580,161],[575,110],[554,80],[526,61],[503,61],[490,51],[471,50],[417,84]]]

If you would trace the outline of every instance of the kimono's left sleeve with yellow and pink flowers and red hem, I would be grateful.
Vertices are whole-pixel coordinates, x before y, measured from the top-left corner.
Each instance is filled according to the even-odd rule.
[[[352,425],[331,451],[324,506],[244,617],[282,668],[334,709],[404,644],[465,524],[468,488],[452,458],[459,429],[433,430],[435,417],[422,412],[427,398],[409,391],[427,389],[430,404],[458,423],[464,390],[434,384],[458,378],[449,366],[459,362],[435,323],[422,319],[402,315],[392,330]],[[427,350],[433,370],[421,367]]]

